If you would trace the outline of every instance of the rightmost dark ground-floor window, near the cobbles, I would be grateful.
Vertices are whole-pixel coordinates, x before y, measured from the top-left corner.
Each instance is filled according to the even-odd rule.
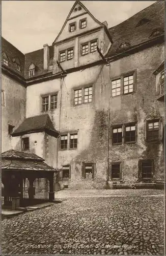
[[[141,178],[142,180],[149,180],[152,178],[153,173],[153,160],[140,161]]]

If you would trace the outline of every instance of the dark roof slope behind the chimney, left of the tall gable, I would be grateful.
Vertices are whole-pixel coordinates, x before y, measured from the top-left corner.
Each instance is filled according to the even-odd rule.
[[[49,46],[49,59],[52,57],[53,57],[53,46]],[[35,65],[35,76],[48,73],[43,69],[43,49],[25,54],[25,78],[29,77],[28,69],[32,63]]]

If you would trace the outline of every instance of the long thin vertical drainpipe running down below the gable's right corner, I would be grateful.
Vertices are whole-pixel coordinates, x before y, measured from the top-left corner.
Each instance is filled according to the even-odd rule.
[[[110,137],[110,62],[109,62],[109,72],[108,72],[108,145],[107,145],[107,179],[106,183],[109,181],[109,137]]]

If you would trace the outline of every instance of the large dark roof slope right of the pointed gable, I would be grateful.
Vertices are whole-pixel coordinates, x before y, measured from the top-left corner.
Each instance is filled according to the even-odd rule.
[[[124,51],[124,49],[119,49],[122,42],[128,42],[132,48],[150,40],[152,38],[151,34],[155,29],[161,29],[164,34],[164,13],[164,1],[157,1],[121,24],[109,28],[110,36],[113,38],[113,45],[108,52],[108,56]],[[149,22],[137,26],[142,19],[148,19]]]

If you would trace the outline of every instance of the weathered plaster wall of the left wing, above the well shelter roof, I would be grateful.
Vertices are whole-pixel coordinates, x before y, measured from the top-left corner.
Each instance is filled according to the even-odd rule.
[[[25,118],[26,88],[2,73],[2,90],[5,91],[5,106],[2,105],[2,152],[5,152],[12,148],[8,125],[16,128]]]

